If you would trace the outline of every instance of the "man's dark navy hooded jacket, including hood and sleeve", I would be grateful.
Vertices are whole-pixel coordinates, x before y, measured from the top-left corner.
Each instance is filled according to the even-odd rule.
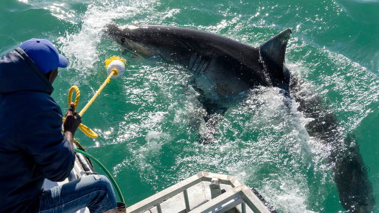
[[[47,77],[20,48],[0,58],[0,212],[36,212],[44,178],[69,176],[74,153]]]

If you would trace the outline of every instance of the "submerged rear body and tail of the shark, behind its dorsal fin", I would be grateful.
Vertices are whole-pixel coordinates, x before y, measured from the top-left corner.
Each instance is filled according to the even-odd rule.
[[[368,179],[368,169],[359,153],[358,142],[353,134],[345,137],[339,130],[337,117],[325,105],[321,96],[310,95],[303,91],[304,87],[304,81],[291,77],[291,96],[299,104],[298,110],[313,119],[305,126],[309,135],[327,147],[327,159],[333,166],[342,206],[349,213],[372,213],[375,198]]]

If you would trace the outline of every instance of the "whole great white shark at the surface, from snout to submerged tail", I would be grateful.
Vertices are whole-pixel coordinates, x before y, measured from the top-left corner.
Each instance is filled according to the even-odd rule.
[[[312,119],[306,125],[310,136],[328,147],[328,160],[333,165],[342,206],[348,212],[373,212],[375,198],[359,146],[351,145],[353,137],[341,140],[345,137],[338,130],[334,113],[328,112],[321,96],[302,94],[303,81],[291,75],[284,64],[291,29],[284,30],[259,47],[182,27],[109,24],[105,32],[131,52],[147,58],[159,55],[166,61],[185,66],[194,74],[205,76],[215,83],[215,90],[220,96],[255,86],[282,89],[286,97],[299,103],[298,110]],[[207,108],[210,114],[215,111],[212,110]],[[208,120],[215,123],[212,118]]]

